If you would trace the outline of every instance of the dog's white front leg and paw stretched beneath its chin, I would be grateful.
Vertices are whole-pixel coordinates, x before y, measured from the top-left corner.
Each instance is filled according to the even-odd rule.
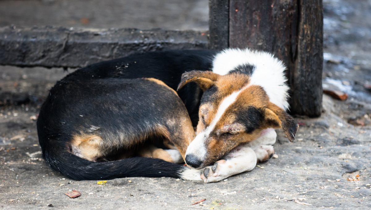
[[[234,174],[251,171],[256,166],[257,160],[254,150],[246,145],[237,146],[224,158],[225,160],[219,160],[213,166],[201,170],[200,176],[205,183],[220,181]]]

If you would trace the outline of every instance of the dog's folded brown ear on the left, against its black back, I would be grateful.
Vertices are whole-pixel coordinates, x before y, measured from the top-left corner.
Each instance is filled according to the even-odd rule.
[[[205,91],[213,87],[219,77],[219,74],[213,73],[212,71],[188,71],[182,74],[177,91],[191,81],[197,83],[201,89]]]

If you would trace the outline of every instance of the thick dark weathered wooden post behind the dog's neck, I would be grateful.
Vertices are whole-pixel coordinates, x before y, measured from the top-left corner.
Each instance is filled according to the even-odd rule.
[[[210,0],[210,47],[245,48],[275,54],[287,66],[291,114],[318,117],[322,112],[323,7],[322,0],[229,0],[227,41],[214,15],[226,0]],[[224,16],[223,16],[224,17]],[[218,39],[212,39],[214,34]],[[226,36],[226,35],[223,35]],[[223,47],[221,47],[223,46]]]

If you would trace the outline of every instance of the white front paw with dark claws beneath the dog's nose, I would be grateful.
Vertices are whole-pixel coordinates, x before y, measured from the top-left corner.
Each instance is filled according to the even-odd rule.
[[[201,179],[204,183],[217,182],[226,179],[230,176],[226,167],[228,166],[226,166],[225,160],[216,161],[213,166],[208,166],[201,170]]]

